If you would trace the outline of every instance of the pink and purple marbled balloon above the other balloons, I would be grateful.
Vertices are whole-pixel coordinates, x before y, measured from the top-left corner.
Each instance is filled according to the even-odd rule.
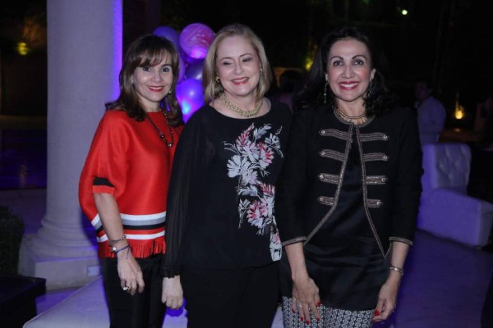
[[[180,46],[191,58],[202,59],[206,57],[213,39],[214,31],[210,27],[202,23],[193,23],[181,31]]]

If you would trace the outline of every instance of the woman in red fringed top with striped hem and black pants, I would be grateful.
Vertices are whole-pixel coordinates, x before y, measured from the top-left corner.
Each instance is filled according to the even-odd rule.
[[[106,104],[80,177],[80,204],[102,258],[110,327],[163,323],[166,195],[182,129],[178,64],[164,38],[144,35],[130,45],[120,96]]]

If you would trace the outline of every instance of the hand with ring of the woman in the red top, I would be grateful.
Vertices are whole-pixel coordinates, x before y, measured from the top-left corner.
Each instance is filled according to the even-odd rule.
[[[118,261],[118,276],[120,277],[120,286],[122,289],[125,286],[130,287],[127,291],[131,295],[135,295],[135,292],[139,290],[139,293],[144,291],[144,279],[142,276],[141,266],[135,260],[132,252],[121,251],[116,254]]]

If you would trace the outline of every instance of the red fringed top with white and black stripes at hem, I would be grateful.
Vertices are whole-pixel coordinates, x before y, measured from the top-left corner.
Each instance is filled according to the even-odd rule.
[[[170,141],[162,112],[148,114]],[[148,120],[138,122],[121,110],[105,113],[79,181],[80,205],[96,230],[99,257],[114,257],[114,253],[96,209],[95,193],[115,197],[134,257],[165,253],[166,198],[181,130],[182,126],[172,128],[175,142],[169,148]]]

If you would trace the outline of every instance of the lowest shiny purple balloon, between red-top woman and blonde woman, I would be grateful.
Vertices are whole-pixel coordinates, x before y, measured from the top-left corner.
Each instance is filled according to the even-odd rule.
[[[204,90],[202,83],[196,79],[186,79],[176,86],[176,98],[183,113],[183,121],[204,104]]]

